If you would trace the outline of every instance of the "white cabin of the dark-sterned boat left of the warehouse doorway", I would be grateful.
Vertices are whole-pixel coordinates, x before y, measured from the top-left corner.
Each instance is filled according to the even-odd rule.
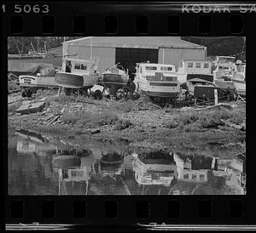
[[[95,60],[79,60],[64,58],[62,60],[62,71],[75,74],[96,73],[97,67]]]

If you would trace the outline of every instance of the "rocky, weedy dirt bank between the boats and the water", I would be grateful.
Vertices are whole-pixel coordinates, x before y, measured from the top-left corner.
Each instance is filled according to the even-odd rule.
[[[22,101],[9,104],[9,127],[57,135],[77,144],[83,144],[83,139],[90,136],[127,139],[137,146],[222,158],[245,151],[245,103],[230,102],[230,109],[195,111],[193,107],[161,108],[143,98],[96,100],[42,92],[31,103],[44,101],[44,109],[20,115],[15,111]]]

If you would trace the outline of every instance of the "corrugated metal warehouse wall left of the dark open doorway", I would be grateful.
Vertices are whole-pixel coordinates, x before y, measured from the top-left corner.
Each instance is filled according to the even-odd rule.
[[[115,48],[92,47],[91,50],[92,57],[100,57],[98,71],[105,71],[107,68],[115,64]],[[68,54],[69,57],[90,59],[90,47],[87,46],[63,46],[63,51],[64,54]]]

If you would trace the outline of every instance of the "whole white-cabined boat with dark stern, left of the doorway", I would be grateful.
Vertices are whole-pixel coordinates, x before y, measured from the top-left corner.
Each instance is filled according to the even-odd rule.
[[[62,88],[92,88],[99,78],[98,62],[98,57],[93,60],[64,58],[61,71],[55,74],[55,82]]]

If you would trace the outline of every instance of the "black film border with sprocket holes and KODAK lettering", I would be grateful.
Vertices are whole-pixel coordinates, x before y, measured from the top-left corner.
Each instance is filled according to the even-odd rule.
[[[247,65],[247,75],[253,76],[253,52],[255,50],[253,23],[256,17],[256,3],[6,2],[2,3],[2,15],[2,77],[8,76],[6,69],[9,66],[7,59],[9,54],[8,37],[64,37],[64,40],[65,37],[78,37],[79,39],[83,37],[194,37],[206,41],[211,37],[216,39],[246,37],[247,48],[249,48],[246,51],[246,60],[249,64]],[[91,46],[90,43],[88,48]],[[110,43],[113,42],[111,40],[107,42],[107,44]],[[167,45],[161,46],[163,51],[164,48],[167,48]],[[16,47],[15,49],[19,50],[17,41]],[[129,48],[129,45],[123,47]],[[131,48],[137,48],[137,45],[133,44]],[[148,47],[144,46],[143,48],[146,50]],[[232,55],[238,54],[238,57],[243,58],[240,55],[245,53],[244,50],[245,48]],[[120,51],[120,53],[125,54],[124,51]],[[76,53],[78,54],[78,52]],[[132,55],[134,54],[131,54],[130,51],[128,57]],[[115,54],[115,58],[117,56]],[[159,56],[160,63],[160,54],[157,56]],[[164,52],[161,56],[164,60]],[[245,60],[245,58],[243,59]],[[79,67],[82,69],[82,66]],[[249,80],[249,82],[253,81]],[[1,84],[3,106],[9,101],[6,98],[8,93],[5,87],[7,86],[8,83],[3,79]],[[253,88],[253,84],[247,85],[247,88]],[[252,93],[253,91],[250,90],[247,92],[249,95]],[[253,105],[250,106],[253,108]],[[8,112],[3,115],[3,121],[9,122],[9,116]],[[253,114],[249,114],[248,117],[247,121],[249,119],[249,122],[253,123]],[[56,119],[49,118],[47,123],[50,125],[50,122],[57,121]],[[3,139],[9,139],[9,125],[4,123],[3,126],[5,126]],[[250,130],[253,132],[253,128],[249,128]],[[97,134],[95,132],[90,131],[90,134]],[[23,133],[20,131],[20,134]],[[36,136],[30,133],[29,137],[31,139]],[[35,190],[33,193],[20,196],[15,191],[10,191],[12,175],[9,171],[14,173],[15,168],[12,168],[10,164],[9,142],[5,140],[3,143],[3,184],[5,187],[6,230],[255,230],[253,214],[255,207],[253,162],[255,159],[253,158],[253,148],[251,149],[250,145],[253,145],[253,137],[247,139],[246,195],[234,195],[235,192],[227,191],[218,192],[217,195],[212,195],[211,192],[208,192],[207,195],[204,192],[191,195],[196,194],[195,190],[198,185],[192,188],[189,195],[173,196],[172,194],[175,193],[171,190],[175,189],[171,185],[162,196],[158,194],[164,188],[158,190],[158,193],[150,195],[150,190],[147,193],[147,187],[146,195],[143,194],[144,187],[139,195],[136,192],[135,195],[131,195],[129,189],[132,184],[129,187],[125,184],[124,179],[120,179],[119,182],[124,186],[125,195],[78,195],[78,193],[73,193],[73,195],[58,196],[49,195],[49,192],[44,195],[43,190]],[[20,150],[23,150],[24,146],[20,146]],[[30,145],[27,146],[27,150],[30,150]],[[31,166],[34,165],[31,164]],[[36,173],[36,170],[34,172]],[[211,173],[213,172],[211,171]],[[245,173],[244,170],[243,173]],[[20,173],[20,177],[22,175],[24,174]],[[61,175],[64,177],[63,173]],[[108,176],[111,177],[109,174]],[[153,179],[153,176],[151,178]],[[18,179],[18,175],[15,179]],[[113,175],[111,179],[116,181],[117,178]],[[158,177],[158,179],[160,178]],[[22,183],[22,179],[20,180]],[[23,184],[23,189],[29,190],[31,187]],[[59,189],[61,188],[59,187]],[[102,193],[99,192],[99,194]]]

